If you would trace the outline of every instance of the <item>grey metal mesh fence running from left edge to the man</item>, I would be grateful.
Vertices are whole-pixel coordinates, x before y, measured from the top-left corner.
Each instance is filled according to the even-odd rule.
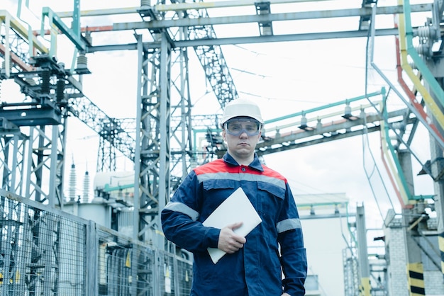
[[[0,190],[0,296],[189,295],[192,262]]]

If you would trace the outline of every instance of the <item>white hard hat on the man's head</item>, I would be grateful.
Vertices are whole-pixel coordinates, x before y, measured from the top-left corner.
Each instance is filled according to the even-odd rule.
[[[262,115],[260,115],[260,108],[256,103],[245,98],[238,98],[226,104],[223,110],[221,124],[223,125],[231,118],[240,116],[254,118],[259,121],[261,125],[264,123]]]

